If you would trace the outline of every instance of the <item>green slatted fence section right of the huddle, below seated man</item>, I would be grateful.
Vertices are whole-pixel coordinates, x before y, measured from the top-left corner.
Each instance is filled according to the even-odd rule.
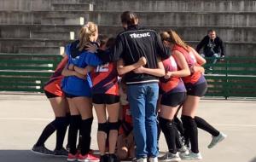
[[[204,67],[208,96],[256,97],[256,57],[226,57]]]

